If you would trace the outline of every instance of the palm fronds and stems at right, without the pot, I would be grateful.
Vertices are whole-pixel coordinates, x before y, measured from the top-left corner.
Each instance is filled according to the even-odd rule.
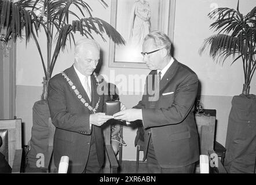
[[[204,40],[204,45],[199,53],[210,45],[210,56],[217,62],[233,56],[232,64],[242,58],[244,84],[242,94],[248,97],[250,83],[256,69],[256,7],[243,16],[239,12],[239,1],[237,9],[218,8],[209,13],[210,19],[215,19],[210,25],[211,29],[218,31]]]

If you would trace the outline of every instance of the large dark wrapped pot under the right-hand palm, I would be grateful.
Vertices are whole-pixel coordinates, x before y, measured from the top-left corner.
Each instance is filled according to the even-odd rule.
[[[254,173],[256,97],[235,96],[229,114],[224,165],[229,173]]]

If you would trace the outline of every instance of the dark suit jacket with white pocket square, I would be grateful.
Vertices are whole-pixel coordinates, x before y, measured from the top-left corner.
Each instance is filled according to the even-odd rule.
[[[149,73],[155,74],[156,71]],[[149,101],[152,93],[147,91],[148,79],[149,76],[145,86],[147,93],[144,92],[142,100],[134,107],[142,109],[145,145],[151,135],[162,168],[180,168],[198,161],[199,141],[193,114],[198,77],[187,66],[174,60],[160,81],[156,101]],[[171,93],[163,95],[168,92]],[[146,152],[147,147],[144,154]]]

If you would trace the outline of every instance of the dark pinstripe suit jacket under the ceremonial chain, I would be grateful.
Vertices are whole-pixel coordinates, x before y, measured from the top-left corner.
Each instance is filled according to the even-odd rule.
[[[87,97],[74,66],[68,68],[64,73],[71,79],[86,102]],[[92,102],[89,104],[95,108],[98,99],[100,103],[97,112],[103,112],[104,95],[97,93],[97,82],[91,76]],[[104,140],[100,127],[92,125],[90,129],[89,117],[93,112],[83,105],[78,99],[70,84],[61,73],[52,77],[49,81],[48,103],[52,123],[56,127],[54,133],[53,154],[54,162],[58,167],[61,156],[70,158],[68,172],[81,173],[85,169],[90,150],[90,140],[95,136],[97,158],[100,166],[104,161]]]

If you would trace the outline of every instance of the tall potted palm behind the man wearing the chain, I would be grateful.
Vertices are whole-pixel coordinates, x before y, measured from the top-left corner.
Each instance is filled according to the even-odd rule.
[[[104,0],[98,0],[98,2],[107,8]],[[76,12],[72,8],[76,8]],[[114,43],[118,45],[125,43],[115,28],[100,18],[92,17],[91,12],[89,4],[81,0],[0,1],[0,32],[5,32],[3,40],[7,43],[11,39],[16,42],[17,38],[24,38],[27,44],[32,38],[37,46],[45,73],[41,100],[35,102],[33,107],[33,126],[28,153],[28,162],[31,167],[38,167],[37,155],[45,154],[47,151],[50,117],[46,101],[47,87],[60,51],[65,49],[67,43],[70,46],[73,42],[75,43],[76,32],[87,38],[93,38],[92,32],[94,32],[104,41],[105,33]],[[71,18],[75,20],[70,21]],[[41,31],[46,35],[46,46],[39,43]],[[42,54],[42,47],[47,49],[46,56]]]

